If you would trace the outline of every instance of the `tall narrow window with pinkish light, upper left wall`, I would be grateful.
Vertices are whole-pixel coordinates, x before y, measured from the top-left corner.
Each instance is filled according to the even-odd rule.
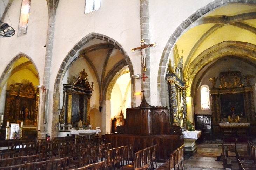
[[[30,2],[31,0],[22,0],[20,9],[18,37],[27,33]]]

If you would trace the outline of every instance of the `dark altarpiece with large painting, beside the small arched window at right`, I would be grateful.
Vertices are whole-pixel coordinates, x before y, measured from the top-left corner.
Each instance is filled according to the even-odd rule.
[[[239,116],[240,123],[250,123],[250,132],[254,132],[255,125],[254,88],[250,85],[249,78],[252,75],[242,77],[240,71],[221,72],[219,75],[220,85],[216,88],[216,80],[211,78],[213,88],[211,94],[211,112],[214,135],[220,134],[220,123],[227,123],[228,117]],[[249,77],[249,78],[248,78]],[[245,78],[247,85],[241,83]]]

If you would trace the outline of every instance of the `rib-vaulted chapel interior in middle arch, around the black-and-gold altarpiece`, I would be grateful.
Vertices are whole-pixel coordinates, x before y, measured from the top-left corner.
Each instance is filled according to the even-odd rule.
[[[94,82],[92,97],[90,98],[90,125],[92,125],[92,129],[100,127],[102,134],[110,132],[112,112],[110,98],[117,79],[125,74],[126,79],[129,79],[128,83],[130,82],[127,92],[123,94],[126,95],[124,107],[128,105],[128,101],[130,103],[133,101],[130,94],[131,91],[134,90],[134,82],[130,81],[133,69],[132,65],[129,63],[129,57],[123,51],[121,45],[115,41],[113,43],[110,40],[111,38],[108,38],[108,41],[106,41],[106,36],[101,38],[97,36],[96,38],[90,38],[82,46],[80,45],[79,50],[73,54],[74,57],[72,60],[70,59],[70,61],[63,63],[66,65],[63,71],[65,75],[63,78],[60,78],[62,80],[60,81],[59,89],[59,108],[63,109],[63,102],[65,100],[63,99],[63,84],[72,83],[73,79],[77,79],[79,73],[85,69],[88,75],[88,81]],[[130,69],[132,69],[132,73]],[[126,87],[127,86],[128,85],[126,85]],[[77,122],[77,120],[73,121],[74,124],[75,122]],[[65,136],[66,134],[63,135]]]

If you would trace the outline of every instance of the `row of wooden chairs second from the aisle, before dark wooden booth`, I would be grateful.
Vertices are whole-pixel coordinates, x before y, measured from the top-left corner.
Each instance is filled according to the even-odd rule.
[[[138,169],[142,167],[148,168],[150,164],[151,164],[151,167],[154,168],[153,163],[154,163],[154,160],[156,160],[156,157],[155,157],[156,147],[157,147],[157,144],[134,153],[134,162],[124,165],[123,167],[121,167],[121,170],[132,170],[132,169]]]

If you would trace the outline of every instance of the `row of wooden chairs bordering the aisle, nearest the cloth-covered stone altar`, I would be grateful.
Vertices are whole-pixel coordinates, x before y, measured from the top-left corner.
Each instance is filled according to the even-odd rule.
[[[170,159],[162,164],[158,170],[185,170],[184,144],[170,154]]]

